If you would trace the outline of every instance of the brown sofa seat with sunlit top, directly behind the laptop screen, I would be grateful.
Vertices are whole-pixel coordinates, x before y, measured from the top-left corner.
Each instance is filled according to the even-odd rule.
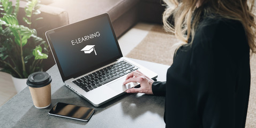
[[[138,22],[138,0],[55,0],[49,6],[61,7],[69,13],[70,23],[108,12],[117,37]],[[134,10],[137,10],[135,12]],[[125,16],[124,16],[125,15]],[[116,21],[119,20],[119,21]]]

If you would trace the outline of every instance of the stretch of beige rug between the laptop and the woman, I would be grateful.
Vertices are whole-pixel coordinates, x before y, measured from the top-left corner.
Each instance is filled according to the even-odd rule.
[[[154,26],[148,35],[126,57],[171,65],[178,42],[174,35],[166,33],[162,26]],[[168,59],[167,59],[168,58]]]

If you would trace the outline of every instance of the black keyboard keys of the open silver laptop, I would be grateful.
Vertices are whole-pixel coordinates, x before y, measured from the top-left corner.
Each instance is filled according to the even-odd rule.
[[[106,68],[95,71],[92,74],[81,77],[75,81],[74,84],[78,85],[81,89],[86,92],[96,89],[97,87],[113,81],[121,76],[131,73],[138,68],[131,65],[126,61],[119,61],[110,65]]]

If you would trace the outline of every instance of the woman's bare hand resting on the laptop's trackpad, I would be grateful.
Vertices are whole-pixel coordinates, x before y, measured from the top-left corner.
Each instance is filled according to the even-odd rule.
[[[153,79],[148,78],[147,76],[142,74],[140,71],[136,70],[128,74],[123,84],[125,85],[130,82],[138,82],[140,83],[140,87],[126,90],[126,93],[153,94],[153,91],[152,91],[152,84],[154,82]]]

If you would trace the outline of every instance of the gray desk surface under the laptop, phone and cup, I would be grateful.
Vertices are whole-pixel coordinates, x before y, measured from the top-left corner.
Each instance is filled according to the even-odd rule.
[[[165,81],[169,66],[132,59],[158,74]],[[82,99],[67,88],[61,80],[57,66],[47,71],[52,77],[51,106],[37,109],[33,105],[28,87],[0,107],[0,127],[164,127],[164,97],[124,94],[100,107]],[[96,109],[89,122],[81,122],[48,115],[56,102],[71,103]]]

